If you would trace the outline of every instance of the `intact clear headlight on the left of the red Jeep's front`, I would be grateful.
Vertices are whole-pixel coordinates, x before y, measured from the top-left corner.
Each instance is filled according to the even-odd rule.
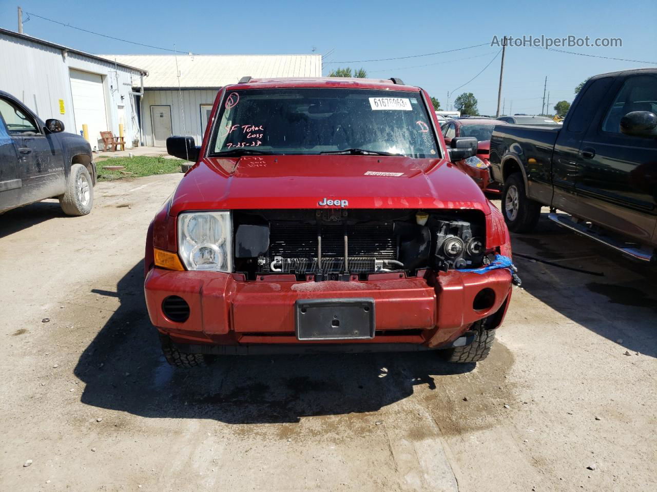
[[[178,251],[187,270],[233,271],[230,212],[190,212],[178,216]]]

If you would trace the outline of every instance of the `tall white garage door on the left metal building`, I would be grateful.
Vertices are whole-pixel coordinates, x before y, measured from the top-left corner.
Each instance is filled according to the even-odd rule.
[[[76,131],[82,125],[89,127],[89,143],[96,150],[102,148],[101,132],[108,131],[105,92],[102,77],[96,73],[71,70],[71,92],[73,94],[73,113],[76,117]]]

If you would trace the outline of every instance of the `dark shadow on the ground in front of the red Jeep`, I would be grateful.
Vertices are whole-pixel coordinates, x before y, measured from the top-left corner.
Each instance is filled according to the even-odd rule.
[[[118,282],[120,306],[81,354],[81,401],[142,417],[215,419],[229,424],[298,422],[301,417],[373,412],[436,388],[434,377],[474,364],[443,363],[434,352],[235,356],[208,367],[173,369],[161,354],[143,295],[143,262]]]

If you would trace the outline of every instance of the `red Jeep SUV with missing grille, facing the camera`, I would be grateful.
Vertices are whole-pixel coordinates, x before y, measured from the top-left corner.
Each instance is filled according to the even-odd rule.
[[[166,359],[444,349],[484,359],[513,273],[503,217],[451,161],[428,94],[399,79],[244,77],[148,229]]]

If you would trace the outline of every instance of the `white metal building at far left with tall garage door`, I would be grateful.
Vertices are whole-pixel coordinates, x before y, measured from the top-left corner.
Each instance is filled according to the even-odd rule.
[[[101,131],[119,135],[126,148],[140,140],[139,96],[133,82],[145,70],[114,63],[14,31],[0,29],[0,89],[19,98],[41,119],[57,118],[66,131],[85,124],[91,148],[102,150]]]

